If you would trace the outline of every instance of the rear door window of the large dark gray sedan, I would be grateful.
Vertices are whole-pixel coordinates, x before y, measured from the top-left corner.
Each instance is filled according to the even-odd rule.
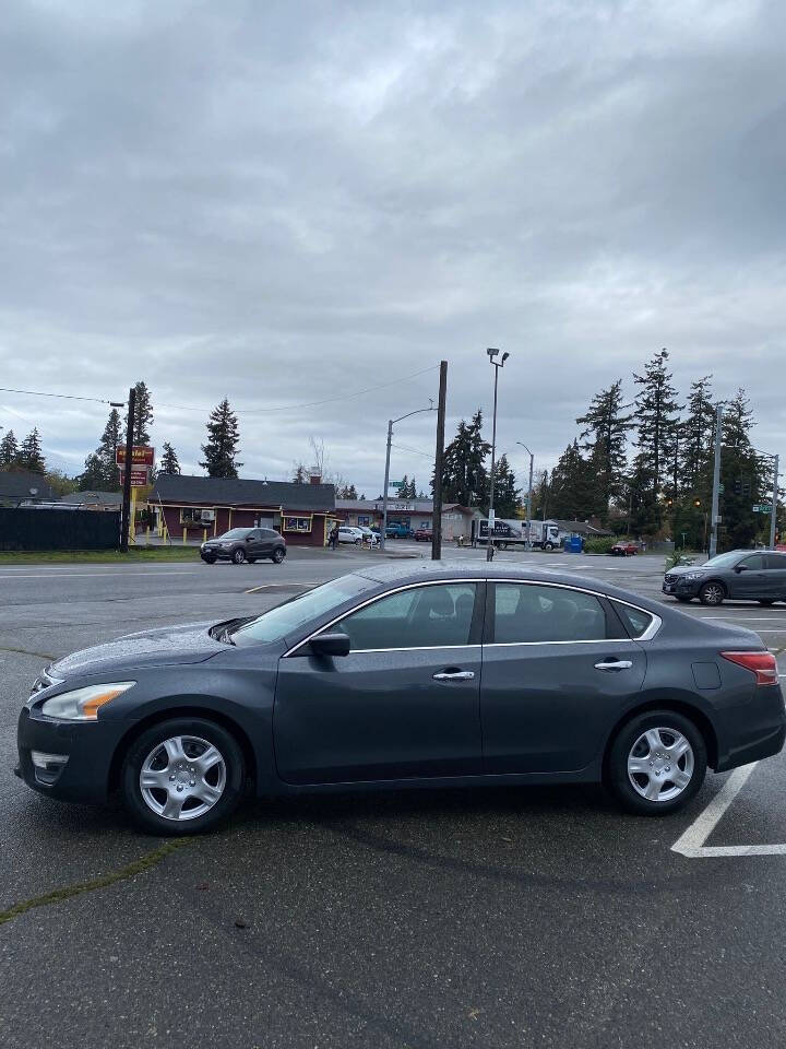
[[[493,641],[597,641],[607,637],[606,615],[592,593],[498,582],[495,586]]]

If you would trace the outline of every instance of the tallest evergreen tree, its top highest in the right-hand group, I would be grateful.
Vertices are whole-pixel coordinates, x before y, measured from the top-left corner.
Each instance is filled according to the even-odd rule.
[[[663,521],[660,496],[670,481],[678,483],[671,465],[677,461],[675,445],[679,433],[677,390],[667,370],[668,350],[660,350],[646,364],[644,375],[633,376],[636,394],[635,444],[632,495],[634,522],[641,532],[655,533]]]

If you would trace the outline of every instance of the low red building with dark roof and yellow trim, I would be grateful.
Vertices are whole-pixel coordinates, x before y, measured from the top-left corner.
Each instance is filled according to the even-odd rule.
[[[296,546],[324,546],[335,520],[332,484],[246,481],[164,473],[156,478],[151,510],[174,540],[221,535],[230,528],[275,528]]]

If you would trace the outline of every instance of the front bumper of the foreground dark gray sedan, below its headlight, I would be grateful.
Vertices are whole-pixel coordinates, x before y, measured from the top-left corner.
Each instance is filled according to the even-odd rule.
[[[24,707],[16,728],[19,765],[14,771],[41,794],[100,804],[109,794],[112,756],[126,729],[124,721],[59,721]],[[57,761],[40,767],[39,758],[36,766],[33,751]]]

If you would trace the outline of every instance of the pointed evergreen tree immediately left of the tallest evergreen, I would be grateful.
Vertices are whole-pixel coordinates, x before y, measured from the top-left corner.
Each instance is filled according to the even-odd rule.
[[[582,448],[590,452],[590,461],[597,484],[595,511],[608,518],[609,506],[618,499],[624,486],[627,472],[626,445],[632,415],[626,415],[631,405],[624,403],[622,379],[596,393],[585,415],[576,419],[585,429],[581,433]]]

